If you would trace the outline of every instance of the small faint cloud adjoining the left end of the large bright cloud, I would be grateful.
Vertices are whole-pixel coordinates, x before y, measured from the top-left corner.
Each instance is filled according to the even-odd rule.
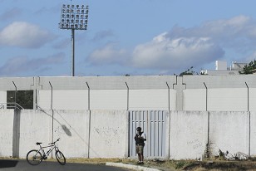
[[[127,54],[125,49],[118,49],[115,47],[116,44],[109,43],[101,49],[93,51],[89,56],[88,60],[92,64],[102,65],[102,64],[123,64],[126,62]]]

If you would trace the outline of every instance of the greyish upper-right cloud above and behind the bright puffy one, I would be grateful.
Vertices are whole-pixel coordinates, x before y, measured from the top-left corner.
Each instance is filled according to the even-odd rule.
[[[222,48],[236,52],[249,51],[256,42],[256,22],[241,15],[229,19],[204,22],[199,27],[173,27],[168,37],[211,37],[212,41]]]

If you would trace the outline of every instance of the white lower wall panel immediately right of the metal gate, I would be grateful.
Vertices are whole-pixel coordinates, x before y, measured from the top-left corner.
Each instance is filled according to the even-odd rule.
[[[170,159],[202,159],[207,124],[207,112],[170,111]]]

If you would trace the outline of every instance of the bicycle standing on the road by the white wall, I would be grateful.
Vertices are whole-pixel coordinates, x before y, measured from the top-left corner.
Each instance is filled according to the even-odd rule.
[[[52,150],[55,149],[55,156],[59,164],[65,165],[66,164],[66,158],[64,154],[58,149],[56,143],[60,139],[57,139],[53,143],[50,143],[48,146],[42,147],[42,143],[36,143],[40,146],[40,149],[32,149],[27,153],[27,163],[31,165],[37,165],[42,162],[42,159],[46,160],[47,156],[51,154]],[[44,152],[44,149],[48,148],[47,153]]]

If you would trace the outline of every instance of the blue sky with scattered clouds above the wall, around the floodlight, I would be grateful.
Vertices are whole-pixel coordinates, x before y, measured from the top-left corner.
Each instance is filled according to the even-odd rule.
[[[0,0],[0,76],[71,76],[62,4],[89,5],[76,76],[176,75],[256,56],[255,0]]]

